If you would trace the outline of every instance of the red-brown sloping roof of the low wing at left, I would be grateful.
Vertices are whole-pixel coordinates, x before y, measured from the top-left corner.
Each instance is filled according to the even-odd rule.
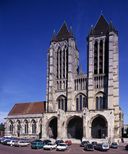
[[[18,103],[13,106],[8,116],[10,115],[26,115],[26,114],[41,114],[45,112],[46,102],[30,102]]]

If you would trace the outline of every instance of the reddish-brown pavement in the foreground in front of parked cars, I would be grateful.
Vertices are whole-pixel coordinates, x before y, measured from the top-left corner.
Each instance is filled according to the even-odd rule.
[[[128,154],[128,151],[124,149],[124,146],[120,146],[118,149],[110,149],[107,152],[101,152],[94,150],[92,152],[84,151],[78,144],[73,144],[67,151],[58,152],[56,150],[46,151],[43,149],[34,150],[31,147],[10,147],[0,144],[0,154]]]

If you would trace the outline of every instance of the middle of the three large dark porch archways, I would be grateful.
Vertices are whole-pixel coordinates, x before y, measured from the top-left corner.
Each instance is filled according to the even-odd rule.
[[[74,116],[67,124],[68,138],[82,139],[83,137],[83,119]]]

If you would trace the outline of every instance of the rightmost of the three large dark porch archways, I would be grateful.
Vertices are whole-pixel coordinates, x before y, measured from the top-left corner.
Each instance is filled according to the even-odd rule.
[[[103,116],[98,116],[92,121],[91,134],[92,138],[107,137],[107,120]]]

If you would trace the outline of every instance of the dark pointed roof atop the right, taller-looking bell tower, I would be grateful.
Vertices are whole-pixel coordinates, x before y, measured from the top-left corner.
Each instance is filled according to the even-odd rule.
[[[117,30],[115,30],[114,26],[112,25],[112,22],[108,23],[107,20],[104,18],[104,16],[101,15],[95,27],[91,28],[90,35],[94,36],[106,35],[110,31],[118,33]]]

